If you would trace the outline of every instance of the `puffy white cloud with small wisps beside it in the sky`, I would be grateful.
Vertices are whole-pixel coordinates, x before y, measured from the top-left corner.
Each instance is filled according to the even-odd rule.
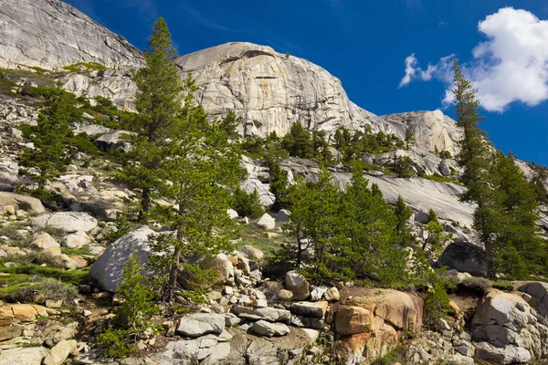
[[[504,7],[480,21],[478,28],[487,40],[473,49],[472,60],[462,68],[478,89],[481,106],[502,112],[512,102],[535,106],[548,99],[548,21],[526,10]],[[437,78],[450,89],[450,57],[432,68],[429,65],[426,71],[412,57],[415,62],[409,68],[406,58],[406,76],[400,87],[414,79]],[[445,102],[452,99],[449,94]]]

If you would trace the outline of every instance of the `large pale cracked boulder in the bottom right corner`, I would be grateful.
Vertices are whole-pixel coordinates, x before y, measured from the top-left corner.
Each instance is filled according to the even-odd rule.
[[[491,289],[476,308],[476,356],[502,364],[548,357],[548,327],[522,297]]]

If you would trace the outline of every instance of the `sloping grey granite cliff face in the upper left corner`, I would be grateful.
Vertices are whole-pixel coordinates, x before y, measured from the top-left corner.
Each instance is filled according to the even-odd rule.
[[[142,56],[122,36],[58,0],[0,0],[0,67],[58,70],[79,62],[139,67]]]

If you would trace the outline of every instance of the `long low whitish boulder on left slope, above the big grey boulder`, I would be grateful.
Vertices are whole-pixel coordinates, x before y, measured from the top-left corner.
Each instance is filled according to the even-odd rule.
[[[42,214],[32,219],[37,228],[52,228],[62,232],[90,232],[97,227],[97,219],[83,212],[58,212]]]

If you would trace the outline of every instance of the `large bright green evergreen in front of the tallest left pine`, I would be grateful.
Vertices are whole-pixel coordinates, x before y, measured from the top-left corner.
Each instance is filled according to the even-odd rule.
[[[161,171],[168,182],[160,186],[161,196],[174,206],[157,207],[155,212],[155,218],[174,231],[174,235],[160,235],[152,247],[171,255],[151,255],[158,273],[169,267],[169,276],[162,277],[163,298],[168,302],[174,298],[180,267],[198,282],[214,278],[191,258],[216,255],[230,247],[232,222],[227,208],[240,172],[237,146],[229,138],[226,123],[208,122],[202,106],[195,104],[195,89],[189,75],[184,81],[184,107],[175,119],[168,146],[169,159]]]

